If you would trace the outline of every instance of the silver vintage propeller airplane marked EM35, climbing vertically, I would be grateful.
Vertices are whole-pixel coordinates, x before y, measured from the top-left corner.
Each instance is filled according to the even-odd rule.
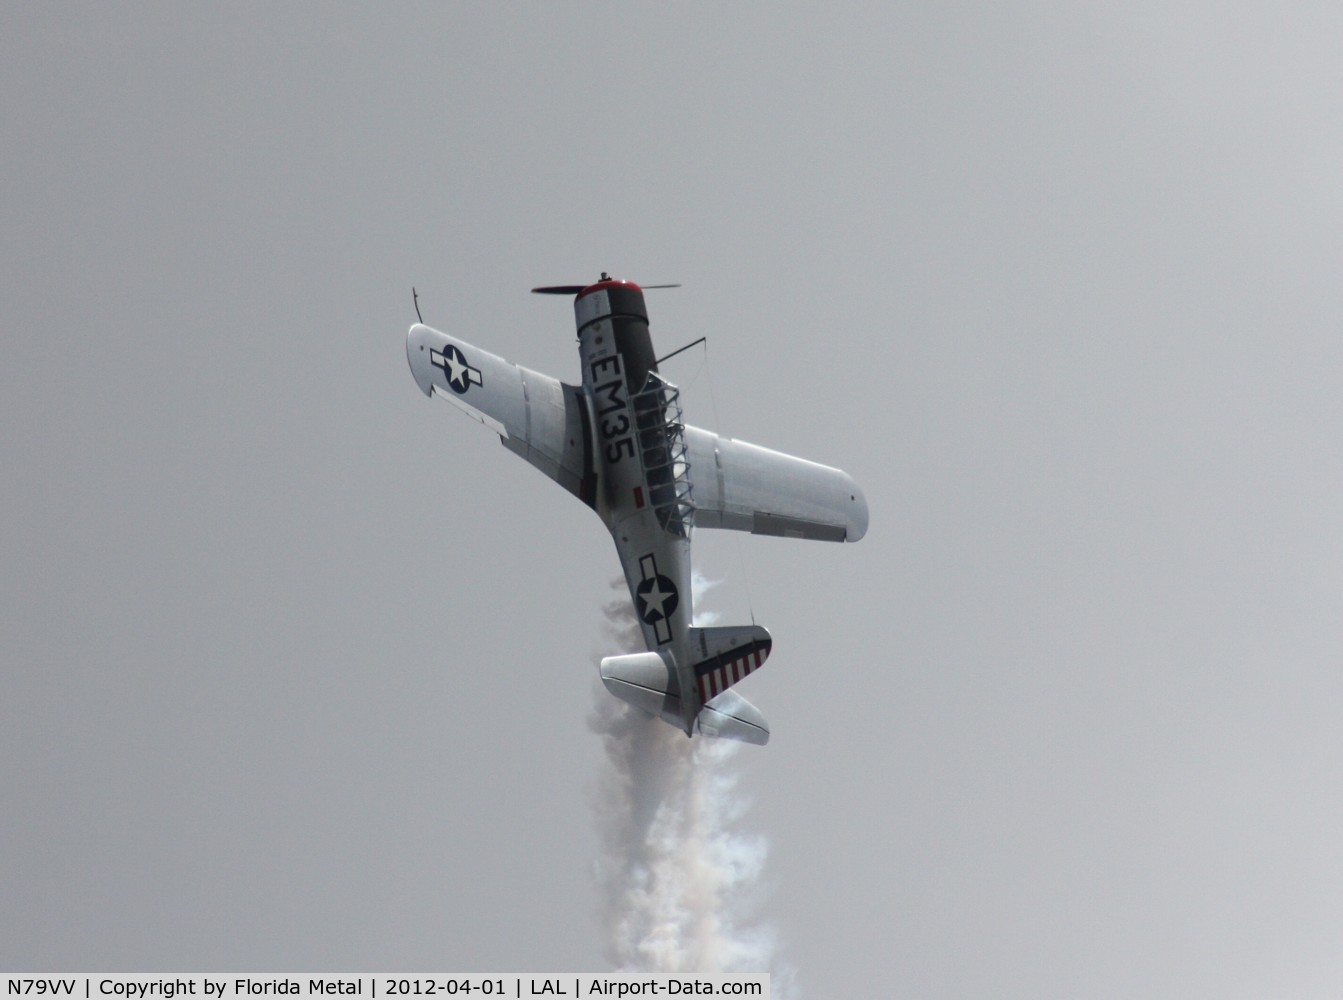
[[[763,746],[764,715],[732,689],[760,668],[772,639],[756,624],[693,624],[692,529],[855,542],[868,530],[862,490],[838,468],[684,423],[634,282],[603,272],[533,291],[573,295],[582,384],[423,322],[406,337],[415,383],[500,435],[611,532],[647,651],[606,656],[606,689],[686,736]]]

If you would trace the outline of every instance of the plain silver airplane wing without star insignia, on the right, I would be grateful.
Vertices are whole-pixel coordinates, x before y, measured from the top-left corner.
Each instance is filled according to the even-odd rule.
[[[685,428],[697,528],[855,542],[868,530],[868,501],[838,468]]]

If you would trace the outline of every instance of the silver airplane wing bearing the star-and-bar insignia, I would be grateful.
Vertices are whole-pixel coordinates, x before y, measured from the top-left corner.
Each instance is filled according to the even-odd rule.
[[[504,447],[592,505],[596,474],[576,387],[423,323],[406,336],[406,360],[426,396],[446,399],[479,420]]]

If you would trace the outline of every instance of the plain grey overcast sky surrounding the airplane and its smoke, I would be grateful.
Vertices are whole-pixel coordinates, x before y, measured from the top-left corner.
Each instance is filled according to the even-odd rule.
[[[0,966],[603,968],[618,562],[426,400],[643,282],[813,997],[1343,985],[1336,4],[0,12]],[[845,993],[845,991],[849,993]]]

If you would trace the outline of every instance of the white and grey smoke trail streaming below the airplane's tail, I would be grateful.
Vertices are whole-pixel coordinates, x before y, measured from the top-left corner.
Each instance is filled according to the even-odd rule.
[[[604,607],[603,655],[642,648],[624,581]],[[696,603],[708,584],[694,579]],[[732,760],[739,744],[696,737],[650,718],[594,686],[588,719],[602,737],[606,766],[598,783],[607,958],[624,972],[771,972],[783,997],[787,969],[776,968],[775,933],[752,918],[768,844],[736,830],[745,803]]]

